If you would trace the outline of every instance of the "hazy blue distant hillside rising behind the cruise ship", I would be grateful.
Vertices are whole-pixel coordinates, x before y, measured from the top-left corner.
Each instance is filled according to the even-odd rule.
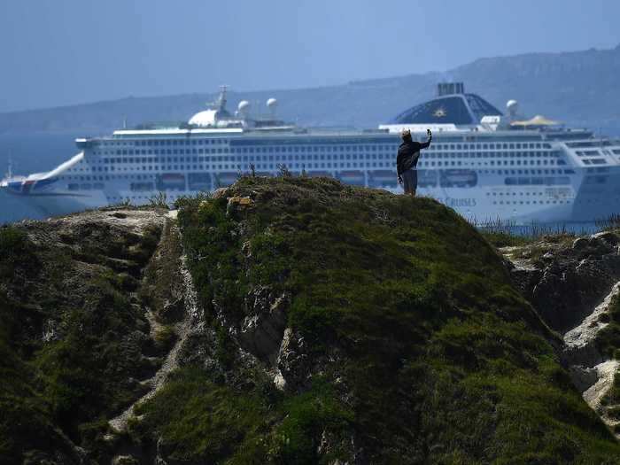
[[[315,89],[231,92],[230,107],[241,99],[264,105],[280,100],[280,115],[303,125],[375,127],[408,106],[434,95],[438,81],[458,80],[465,88],[503,108],[509,98],[523,112],[543,113],[570,125],[620,134],[620,46],[613,50],[531,53],[481,58],[445,73],[410,74],[352,81]],[[121,100],[27,112],[0,113],[0,134],[19,131],[83,130],[98,134],[153,120],[188,120],[213,94],[128,97]]]

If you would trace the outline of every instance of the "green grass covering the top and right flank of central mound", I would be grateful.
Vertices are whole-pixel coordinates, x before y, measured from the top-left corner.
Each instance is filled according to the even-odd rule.
[[[334,434],[355,431],[376,462],[615,462],[620,449],[571,386],[554,335],[492,245],[452,210],[327,179],[246,177],[229,196],[255,203],[227,212],[226,198],[177,202],[210,321],[220,325],[214,305],[231,324],[252,314],[245,296],[259,286],[286,292],[311,359],[340,354],[320,379],[332,389],[341,379],[348,399],[320,401],[325,410],[303,407],[314,388],[284,396],[276,412],[302,407],[262,422],[260,436],[305,432],[291,432],[290,453],[271,447],[264,460],[304,462],[334,418]],[[220,342],[222,353],[236,344]],[[234,357],[226,365],[234,371]],[[232,451],[243,443],[231,441]],[[334,453],[346,460],[345,448]]]

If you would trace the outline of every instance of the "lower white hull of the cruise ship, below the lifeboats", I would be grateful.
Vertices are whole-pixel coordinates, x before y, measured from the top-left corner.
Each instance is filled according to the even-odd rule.
[[[313,174],[308,173],[308,175]],[[329,175],[329,173],[320,174]],[[479,224],[498,219],[515,224],[595,221],[620,213],[618,202],[620,171],[608,174],[604,187],[585,184],[584,179],[584,175],[576,174],[573,182],[562,188],[554,186],[507,187],[492,179],[486,181],[497,183],[481,184],[480,182],[484,182],[483,175],[476,186],[419,187],[417,195],[435,198],[469,221]],[[364,182],[355,181],[357,185],[364,185]],[[231,182],[234,182],[234,179],[229,179],[227,185]],[[48,190],[40,193],[11,193],[7,189],[0,189],[0,202],[4,205],[5,202],[11,202],[13,205],[18,203],[24,208],[35,209],[42,216],[57,216],[125,201],[133,205],[144,205],[162,192],[162,190],[144,190],[136,196],[136,192],[122,189],[123,187],[126,186],[123,186],[122,182],[116,182],[109,183],[106,190]],[[394,182],[389,186],[370,185],[368,187],[397,194],[402,193],[402,189]],[[168,202],[172,203],[176,198],[193,196],[200,190],[183,190],[182,186],[176,186],[174,190],[163,192],[166,193]]]

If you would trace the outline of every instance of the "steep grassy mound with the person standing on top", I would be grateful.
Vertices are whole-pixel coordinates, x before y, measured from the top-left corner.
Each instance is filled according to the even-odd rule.
[[[500,255],[426,198],[243,178],[179,203],[203,306],[136,443],[190,463],[614,463]]]

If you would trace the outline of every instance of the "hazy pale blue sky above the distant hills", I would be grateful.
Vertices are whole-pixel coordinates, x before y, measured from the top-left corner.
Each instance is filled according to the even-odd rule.
[[[613,48],[616,0],[0,0],[0,112]]]

